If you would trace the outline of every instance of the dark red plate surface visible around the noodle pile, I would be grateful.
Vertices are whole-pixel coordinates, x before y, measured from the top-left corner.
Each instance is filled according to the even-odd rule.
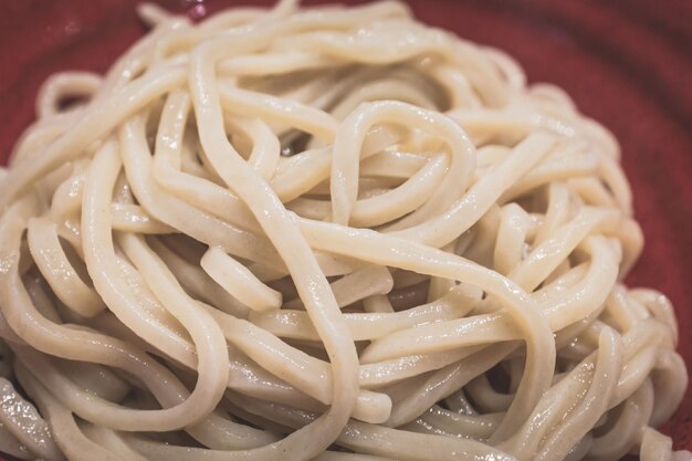
[[[252,1],[164,0],[200,17]],[[137,0],[0,2],[0,160],[33,118],[53,72],[104,72],[144,33]],[[270,2],[261,2],[268,4]],[[307,1],[305,3],[313,3]],[[506,50],[531,82],[565,88],[622,146],[647,245],[628,277],[675,305],[680,350],[692,369],[692,2],[411,0],[423,21]],[[663,428],[692,449],[692,395]],[[0,458],[1,460],[1,458]]]

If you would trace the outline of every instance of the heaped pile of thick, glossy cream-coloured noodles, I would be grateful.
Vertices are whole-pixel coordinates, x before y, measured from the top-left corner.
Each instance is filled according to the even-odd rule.
[[[564,92],[396,2],[139,12],[2,170],[0,451],[692,459],[618,144]]]

